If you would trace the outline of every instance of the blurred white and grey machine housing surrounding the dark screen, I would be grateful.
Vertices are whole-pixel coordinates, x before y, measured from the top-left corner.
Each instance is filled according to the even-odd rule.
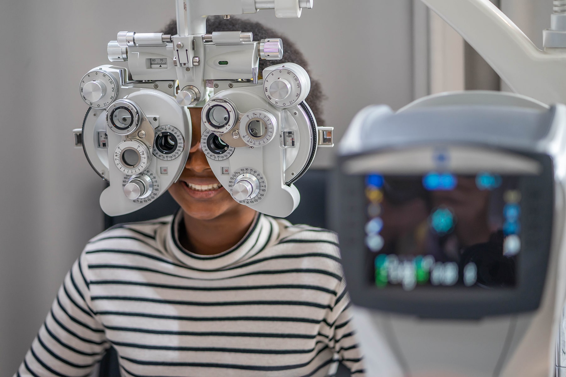
[[[538,123],[530,126],[522,124],[513,133],[513,123],[505,122],[506,109],[530,114],[528,117],[535,117]],[[462,119],[454,118],[454,114],[459,113]],[[479,113],[491,114],[490,122],[475,122],[477,118],[473,118],[471,114]],[[448,116],[446,114],[451,114],[451,118],[446,119],[451,119],[454,123],[443,122],[443,116]],[[411,119],[413,123],[406,123]],[[431,119],[436,121],[431,123]],[[451,131],[451,124],[457,131]],[[473,124],[477,127],[474,128]],[[497,124],[500,124],[500,129]],[[350,199],[354,193],[349,183],[353,178],[349,178],[349,175],[370,172],[372,164],[375,168],[378,162],[381,166],[394,163],[406,168],[406,171],[422,171],[422,168],[429,168],[427,164],[430,163],[430,170],[434,170],[432,156],[418,161],[409,157],[415,148],[422,147],[426,150],[432,145],[442,145],[443,148],[452,148],[454,151],[470,146],[485,148],[486,153],[506,150],[550,157],[550,176],[554,184],[549,183],[542,192],[554,192],[554,197],[542,199],[551,200],[554,204],[550,205],[550,211],[541,210],[541,218],[526,219],[528,223],[523,224],[524,228],[534,226],[533,224],[552,224],[552,229],[545,226],[541,228],[543,231],[539,231],[549,235],[539,246],[544,249],[543,245],[548,245],[547,250],[550,252],[531,259],[535,261],[535,265],[545,263],[539,265],[539,268],[546,266],[541,275],[531,278],[533,289],[541,289],[540,296],[533,301],[535,305],[523,309],[519,307],[523,304],[521,297],[528,301],[530,299],[526,297],[532,293],[528,293],[531,282],[525,281],[525,276],[520,278],[518,287],[511,288],[511,291],[487,289],[464,293],[462,289],[469,288],[449,288],[460,291],[443,291],[444,298],[426,289],[419,293],[395,291],[395,294],[388,294],[387,289],[384,289],[378,292],[379,297],[383,297],[380,299],[372,296],[378,294],[375,287],[366,287],[361,283],[359,275],[365,268],[364,262],[359,256],[355,256],[359,255],[359,250],[353,246],[358,242],[359,236],[354,235],[349,228],[354,227],[351,225],[352,222],[355,223],[354,217],[364,216],[365,210],[359,209]],[[499,92],[439,94],[415,101],[397,114],[387,106],[370,106],[361,110],[353,119],[341,141],[340,155],[342,173],[334,182],[337,187],[334,197],[337,206],[332,208],[335,211],[333,218],[336,220],[333,226],[338,229],[341,246],[345,250],[342,258],[355,304],[354,323],[365,353],[367,375],[554,375],[555,335],[566,288],[566,275],[563,273],[566,270],[566,106],[556,105],[549,109],[527,97]],[[461,163],[474,164],[473,161],[458,162],[455,155],[447,170],[450,171],[457,167],[454,164]],[[495,160],[490,163],[497,166],[505,162]],[[379,171],[379,168],[374,171]],[[346,211],[354,214],[348,215]],[[364,220],[361,221],[363,232]],[[537,248],[537,245],[534,247]],[[534,288],[535,285],[539,288]],[[432,288],[433,291],[434,289]],[[504,302],[507,302],[505,295],[508,294],[526,296],[513,297],[509,301],[511,305],[507,307],[477,304],[465,311],[460,310],[475,300],[482,302],[484,294],[501,297]],[[411,298],[405,300],[403,296]],[[371,309],[375,307],[381,309]]]

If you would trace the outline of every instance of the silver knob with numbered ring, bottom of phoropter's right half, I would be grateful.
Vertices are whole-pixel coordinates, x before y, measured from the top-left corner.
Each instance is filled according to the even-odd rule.
[[[257,169],[243,167],[235,171],[228,184],[230,194],[239,203],[253,205],[264,198],[267,192],[265,178]]]

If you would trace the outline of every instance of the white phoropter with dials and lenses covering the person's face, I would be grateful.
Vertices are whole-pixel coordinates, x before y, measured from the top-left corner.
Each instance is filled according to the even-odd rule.
[[[293,63],[258,71],[260,58],[282,59],[278,38],[206,33],[208,15],[268,8],[299,17],[312,0],[177,0],[177,35],[119,32],[109,42],[108,59],[127,61],[128,70],[103,65],[83,77],[89,109],[74,130],[75,145],[109,183],[100,197],[106,214],[131,213],[164,193],[195,142],[234,200],[275,216],[297,207],[293,182],[318,146],[332,146],[332,128],[318,127],[304,101],[307,72]],[[200,140],[191,140],[187,107],[203,108]]]

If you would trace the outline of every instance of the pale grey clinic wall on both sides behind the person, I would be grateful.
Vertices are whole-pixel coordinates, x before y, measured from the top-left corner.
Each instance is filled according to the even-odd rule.
[[[539,48],[551,0],[494,0]],[[0,375],[22,361],[85,242],[103,230],[104,183],[74,148],[87,106],[79,80],[109,64],[119,31],[157,32],[173,0],[3,1],[0,5]],[[245,18],[288,36],[327,99],[337,140],[354,114],[399,109],[445,90],[505,89],[495,72],[419,0],[317,0],[300,19]],[[478,25],[478,28],[481,25]],[[273,36],[277,37],[277,35]],[[312,168],[332,166],[320,149]]]

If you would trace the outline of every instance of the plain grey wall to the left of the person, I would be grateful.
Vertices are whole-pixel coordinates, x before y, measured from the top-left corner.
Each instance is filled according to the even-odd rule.
[[[68,268],[102,230],[104,185],[72,144],[79,80],[123,29],[156,31],[173,1],[0,2],[0,375],[22,361]]]

